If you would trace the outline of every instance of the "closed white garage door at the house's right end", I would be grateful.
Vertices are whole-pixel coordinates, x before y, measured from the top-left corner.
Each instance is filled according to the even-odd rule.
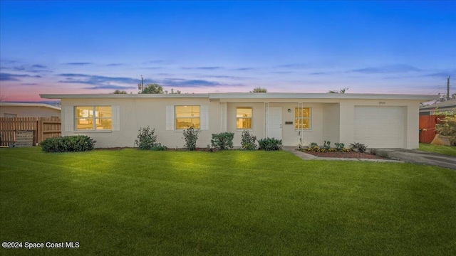
[[[355,107],[355,142],[370,148],[403,148],[404,107]]]

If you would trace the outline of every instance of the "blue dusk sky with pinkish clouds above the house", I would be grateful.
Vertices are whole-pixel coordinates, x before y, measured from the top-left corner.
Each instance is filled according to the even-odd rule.
[[[456,80],[456,1],[1,0],[0,53],[8,101],[136,93],[141,75],[190,93],[437,94]]]

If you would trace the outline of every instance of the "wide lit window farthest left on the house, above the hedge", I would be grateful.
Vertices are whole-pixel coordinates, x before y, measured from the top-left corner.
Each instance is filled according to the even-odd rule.
[[[110,106],[76,107],[77,130],[110,130],[113,127],[113,110]]]

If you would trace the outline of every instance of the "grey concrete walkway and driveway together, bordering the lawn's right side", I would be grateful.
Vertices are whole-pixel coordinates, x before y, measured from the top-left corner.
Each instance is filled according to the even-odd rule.
[[[297,151],[295,146],[284,146],[284,151],[289,151],[292,154],[304,160],[338,160],[338,161],[375,161],[375,162],[407,162],[413,164],[427,164],[431,166],[441,166],[456,170],[456,157],[443,154],[434,154],[418,149],[379,149],[386,151],[391,159],[343,159],[332,157],[318,157],[311,154],[306,154]]]

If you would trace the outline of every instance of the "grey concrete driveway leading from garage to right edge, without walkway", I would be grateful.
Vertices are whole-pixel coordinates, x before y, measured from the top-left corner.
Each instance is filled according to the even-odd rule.
[[[456,170],[456,157],[443,154],[434,154],[418,149],[380,149],[387,151],[391,159],[405,161],[414,164],[427,164],[442,166]]]

